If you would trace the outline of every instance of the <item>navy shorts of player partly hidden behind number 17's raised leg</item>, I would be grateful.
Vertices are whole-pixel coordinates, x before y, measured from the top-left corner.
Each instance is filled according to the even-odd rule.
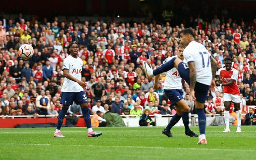
[[[172,105],[184,98],[182,89],[164,89],[164,94],[172,102]]]

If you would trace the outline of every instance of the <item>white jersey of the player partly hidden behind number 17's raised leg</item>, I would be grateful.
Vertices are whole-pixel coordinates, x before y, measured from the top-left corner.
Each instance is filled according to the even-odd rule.
[[[177,58],[178,55],[168,57],[163,61],[163,64],[168,62],[169,60],[173,58]],[[186,63],[186,60],[183,60]],[[173,67],[171,70],[166,72],[166,78],[164,81],[164,89],[182,89],[182,84],[181,84],[181,77],[178,72],[178,70]]]

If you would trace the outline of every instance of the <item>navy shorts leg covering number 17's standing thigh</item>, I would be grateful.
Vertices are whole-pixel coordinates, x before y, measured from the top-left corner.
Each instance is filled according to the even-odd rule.
[[[209,85],[196,82],[196,85],[195,85],[196,101],[204,104],[207,98],[209,89],[210,89]]]

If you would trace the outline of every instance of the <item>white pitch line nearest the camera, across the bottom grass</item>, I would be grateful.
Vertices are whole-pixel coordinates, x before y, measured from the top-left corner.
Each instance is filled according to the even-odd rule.
[[[148,146],[103,146],[103,145],[81,145],[81,144],[28,144],[28,143],[0,143],[0,145],[42,145],[42,146],[82,146],[82,147],[112,147],[112,148],[141,148],[141,149],[176,149],[176,150],[213,150],[232,152],[255,152],[256,150],[217,149],[217,148],[181,148],[181,147],[148,147]]]

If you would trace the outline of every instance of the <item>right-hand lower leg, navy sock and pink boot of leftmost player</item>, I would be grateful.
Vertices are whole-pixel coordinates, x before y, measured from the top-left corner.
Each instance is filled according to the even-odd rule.
[[[84,117],[84,121],[86,123],[87,126],[87,130],[88,130],[88,137],[98,137],[100,135],[102,135],[101,132],[97,133],[95,131],[92,130],[92,124],[91,124],[91,117],[89,114],[89,108],[87,107],[87,104],[82,104],[80,105],[82,107],[82,112],[83,112],[83,117]]]

